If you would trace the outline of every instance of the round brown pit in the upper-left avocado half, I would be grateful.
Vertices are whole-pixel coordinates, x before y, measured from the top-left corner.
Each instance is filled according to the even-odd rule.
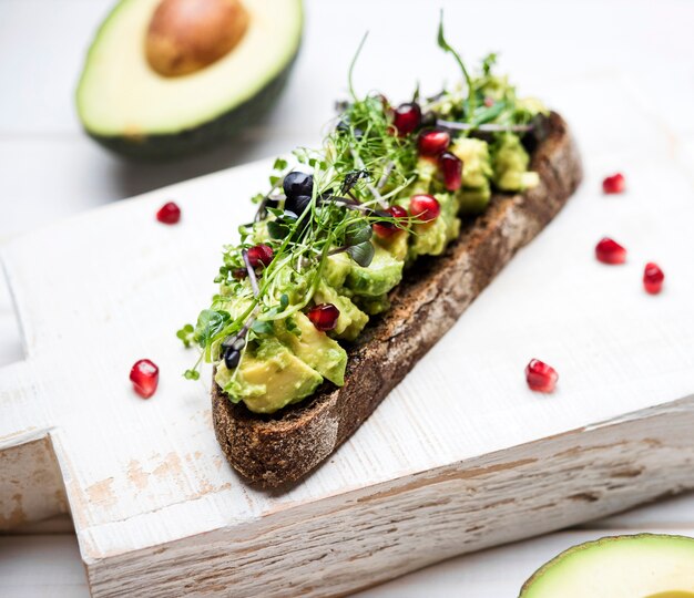
[[[198,72],[228,54],[248,22],[239,0],[162,0],[145,37],[147,63],[166,78]]]

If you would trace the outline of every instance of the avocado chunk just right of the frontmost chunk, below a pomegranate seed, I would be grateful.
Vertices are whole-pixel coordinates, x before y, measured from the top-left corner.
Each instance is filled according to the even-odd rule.
[[[347,351],[336,340],[320,332],[304,313],[295,313],[292,321],[296,327],[295,332],[287,330],[285,321],[275,323],[279,341],[320,375],[341,386],[345,383]]]

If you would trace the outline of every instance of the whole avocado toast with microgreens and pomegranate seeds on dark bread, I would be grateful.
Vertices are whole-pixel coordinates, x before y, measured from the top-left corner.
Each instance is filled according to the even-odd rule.
[[[178,332],[214,364],[216,436],[252,482],[330,455],[581,179],[558,114],[519,100],[493,55],[472,79],[439,44],[462,89],[397,107],[353,92],[300,169],[276,162],[221,292]]]

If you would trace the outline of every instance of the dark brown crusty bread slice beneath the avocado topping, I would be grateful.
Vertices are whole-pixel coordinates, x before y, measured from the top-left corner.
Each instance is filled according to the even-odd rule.
[[[343,388],[326,383],[313,398],[275,415],[257,415],[232,403],[213,381],[215,434],[234,468],[265,487],[295,482],[315,468],[557,215],[581,182],[582,168],[561,116],[552,113],[549,125],[532,154],[531,168],[541,184],[519,195],[496,195],[443,256],[417,260],[394,289],[391,309],[347,348]]]

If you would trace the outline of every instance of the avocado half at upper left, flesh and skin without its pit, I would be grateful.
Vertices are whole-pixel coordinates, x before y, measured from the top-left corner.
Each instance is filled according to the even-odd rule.
[[[210,1],[175,3],[185,14]],[[132,158],[183,156],[235,135],[272,106],[300,45],[302,0],[241,0],[245,29],[235,45],[195,72],[165,76],[146,51],[161,4],[121,0],[115,6],[96,32],[76,90],[89,135]]]

